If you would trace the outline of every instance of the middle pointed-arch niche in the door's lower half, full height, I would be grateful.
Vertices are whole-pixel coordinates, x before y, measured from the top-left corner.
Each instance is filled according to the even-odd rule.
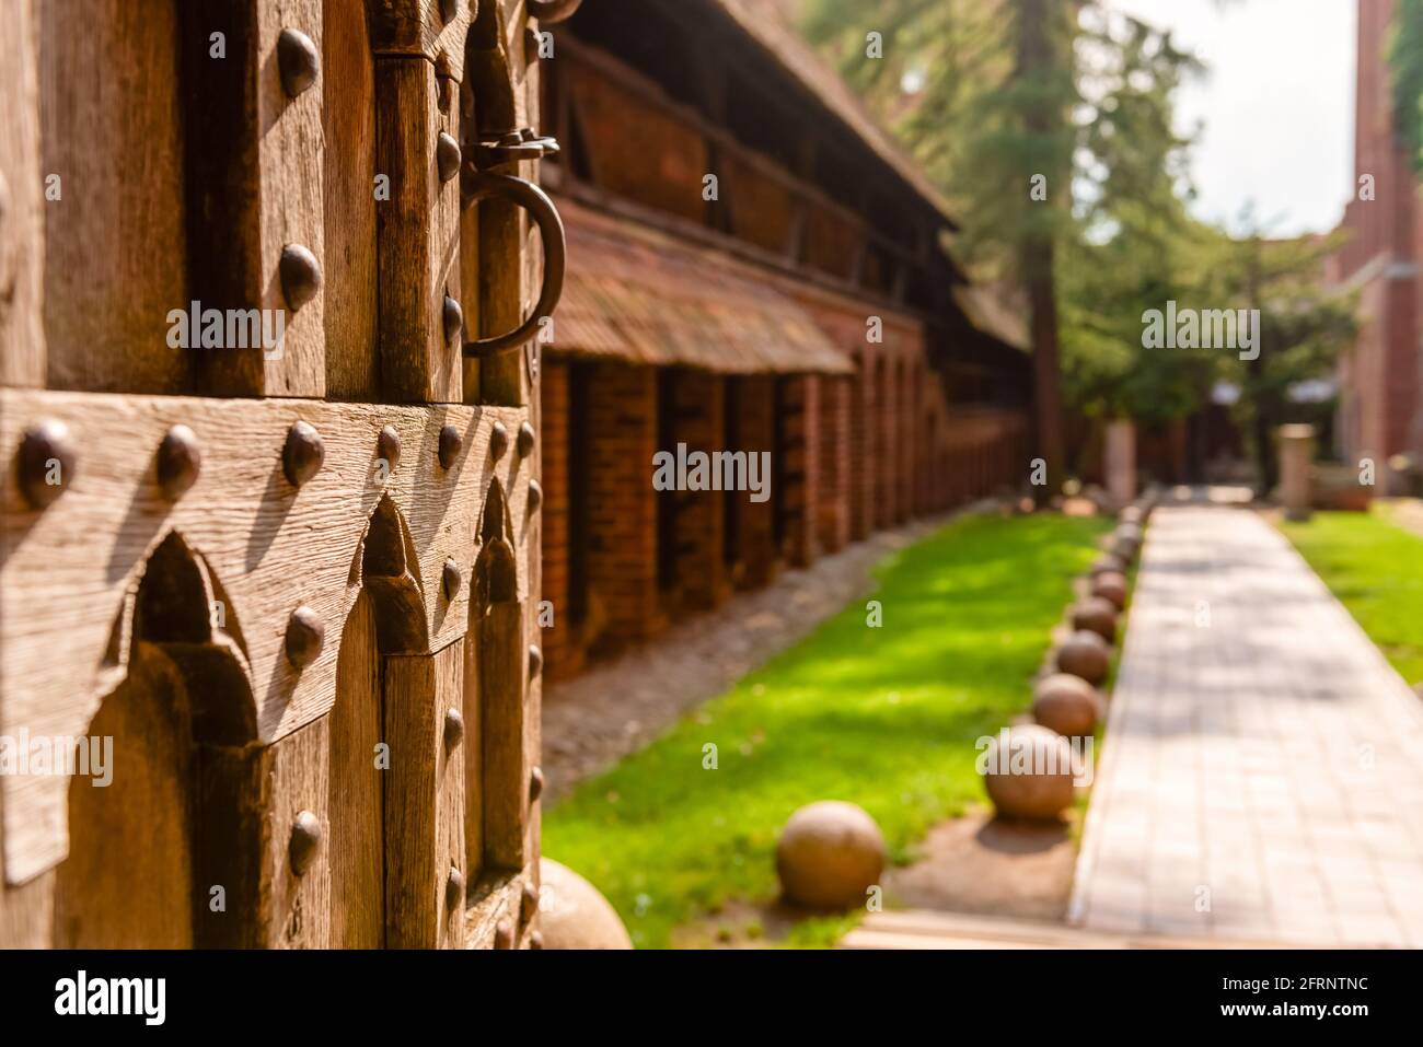
[[[384,748],[383,673],[386,656],[428,646],[418,573],[410,528],[390,496],[381,496],[351,566],[360,590],[342,630],[327,724],[333,949],[386,945],[387,812],[418,802],[393,788],[387,775],[396,757]]]

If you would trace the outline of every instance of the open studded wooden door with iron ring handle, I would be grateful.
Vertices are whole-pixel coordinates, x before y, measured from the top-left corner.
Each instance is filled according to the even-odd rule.
[[[0,946],[539,943],[572,7],[0,0]]]

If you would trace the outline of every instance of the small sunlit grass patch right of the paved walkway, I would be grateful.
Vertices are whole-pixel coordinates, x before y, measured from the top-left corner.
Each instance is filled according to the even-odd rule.
[[[1423,538],[1375,512],[1316,512],[1281,529],[1387,656],[1423,683]]]

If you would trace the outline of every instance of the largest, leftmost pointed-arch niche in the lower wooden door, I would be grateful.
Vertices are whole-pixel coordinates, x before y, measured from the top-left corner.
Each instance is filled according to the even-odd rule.
[[[118,684],[78,740],[54,945],[242,945],[260,832],[243,791],[258,738],[236,613],[206,562],[169,532],[125,600]],[[85,762],[87,760],[87,762]]]

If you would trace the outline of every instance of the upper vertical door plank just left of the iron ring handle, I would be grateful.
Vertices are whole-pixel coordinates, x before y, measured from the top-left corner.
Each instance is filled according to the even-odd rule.
[[[460,296],[460,179],[441,181],[437,139],[460,139],[458,105],[441,111],[435,67],[376,60],[376,156],[390,199],[376,211],[381,384],[400,403],[460,403],[461,339],[445,336]],[[505,257],[505,256],[501,256]]]

